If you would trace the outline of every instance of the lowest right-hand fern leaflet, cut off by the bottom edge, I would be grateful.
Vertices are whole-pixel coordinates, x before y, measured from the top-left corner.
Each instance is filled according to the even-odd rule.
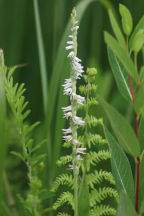
[[[116,210],[110,206],[96,206],[90,211],[90,216],[112,216],[116,215]]]

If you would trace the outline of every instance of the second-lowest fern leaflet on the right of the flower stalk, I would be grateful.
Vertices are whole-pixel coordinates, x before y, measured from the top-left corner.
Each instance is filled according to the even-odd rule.
[[[115,198],[118,202],[118,193],[111,187],[99,188],[98,190],[93,189],[90,193],[90,206],[94,207],[100,204],[106,198]]]

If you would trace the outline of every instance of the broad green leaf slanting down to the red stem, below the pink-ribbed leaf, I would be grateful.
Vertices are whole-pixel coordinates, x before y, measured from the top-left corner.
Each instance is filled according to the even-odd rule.
[[[105,110],[116,134],[116,137],[126,152],[134,158],[140,155],[140,146],[134,130],[131,128],[128,121],[104,99],[99,97],[99,102]]]

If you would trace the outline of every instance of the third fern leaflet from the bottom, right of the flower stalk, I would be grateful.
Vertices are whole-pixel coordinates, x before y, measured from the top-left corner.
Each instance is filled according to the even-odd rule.
[[[115,185],[114,177],[111,172],[100,170],[94,171],[87,175],[87,183],[93,189],[95,184],[100,184],[103,180],[108,181],[110,184]]]

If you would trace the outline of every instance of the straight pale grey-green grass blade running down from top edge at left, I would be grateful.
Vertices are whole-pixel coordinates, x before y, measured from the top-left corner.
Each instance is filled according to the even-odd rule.
[[[42,30],[40,24],[38,1],[33,0],[33,4],[34,4],[34,17],[35,17],[35,24],[36,24],[38,54],[39,54],[39,62],[40,62],[40,74],[41,74],[42,93],[43,93],[43,106],[44,106],[43,108],[46,114],[47,100],[48,100],[48,79],[47,79],[46,60],[45,60],[44,44],[43,44]]]

